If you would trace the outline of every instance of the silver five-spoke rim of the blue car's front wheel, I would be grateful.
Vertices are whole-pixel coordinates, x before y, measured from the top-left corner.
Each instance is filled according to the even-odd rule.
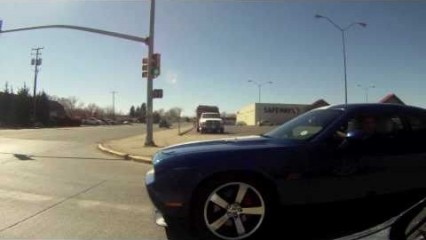
[[[204,223],[217,237],[238,240],[253,235],[265,218],[265,202],[253,186],[243,182],[223,184],[204,204]]]

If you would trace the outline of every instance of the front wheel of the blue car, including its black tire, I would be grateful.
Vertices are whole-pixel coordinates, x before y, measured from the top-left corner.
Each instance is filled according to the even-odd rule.
[[[271,226],[275,204],[269,189],[252,177],[209,181],[194,196],[192,222],[201,239],[258,239]]]

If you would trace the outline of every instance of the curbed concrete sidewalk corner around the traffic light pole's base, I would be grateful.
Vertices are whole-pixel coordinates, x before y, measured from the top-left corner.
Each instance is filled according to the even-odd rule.
[[[226,136],[217,134],[194,134],[195,130],[192,125],[181,127],[181,135],[178,129],[172,128],[167,130],[160,130],[154,132],[154,142],[157,147],[145,147],[145,134],[128,137],[124,139],[117,139],[106,141],[98,145],[101,151],[123,157],[127,160],[134,160],[138,162],[151,163],[152,156],[161,148],[174,144],[211,140],[218,138],[225,138]]]

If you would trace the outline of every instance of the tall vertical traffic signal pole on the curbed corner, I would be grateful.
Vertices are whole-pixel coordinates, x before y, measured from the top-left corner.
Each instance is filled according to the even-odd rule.
[[[148,61],[151,61],[154,55],[154,21],[155,21],[155,0],[151,0],[150,20],[149,20],[149,37],[148,37]],[[145,146],[155,146],[153,139],[153,104],[152,104],[152,91],[154,76],[152,74],[152,64],[148,64],[148,76],[147,76],[147,101],[146,101],[146,138]]]

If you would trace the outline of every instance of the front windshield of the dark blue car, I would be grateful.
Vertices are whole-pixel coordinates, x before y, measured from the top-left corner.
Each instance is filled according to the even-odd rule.
[[[307,141],[318,135],[341,114],[342,111],[335,109],[311,111],[284,123],[263,136],[286,140]]]

